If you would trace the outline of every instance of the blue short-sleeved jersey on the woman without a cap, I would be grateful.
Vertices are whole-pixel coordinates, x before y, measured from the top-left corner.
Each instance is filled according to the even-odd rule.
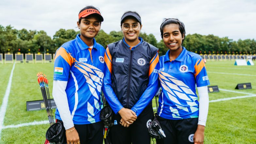
[[[158,73],[162,88],[158,115],[170,120],[197,118],[196,86],[210,85],[202,58],[183,47],[181,54],[170,61],[168,50],[159,58]]]

